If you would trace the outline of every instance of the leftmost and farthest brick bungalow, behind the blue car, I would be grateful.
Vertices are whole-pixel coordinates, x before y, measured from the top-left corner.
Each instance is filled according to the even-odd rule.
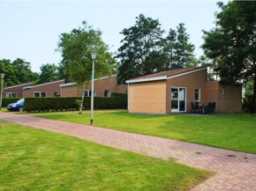
[[[4,88],[4,97],[6,98],[23,98],[23,88],[27,85],[33,85],[33,82],[26,84],[17,84]]]

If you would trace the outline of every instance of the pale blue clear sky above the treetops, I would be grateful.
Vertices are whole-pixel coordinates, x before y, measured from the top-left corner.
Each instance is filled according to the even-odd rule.
[[[0,0],[0,59],[25,59],[31,62],[33,71],[39,72],[41,64],[60,62],[61,55],[56,52],[59,35],[78,28],[83,20],[101,29],[102,40],[111,52],[117,52],[124,39],[120,32],[134,26],[139,14],[158,18],[166,32],[183,22],[200,57],[202,30],[215,27],[215,11],[220,11],[217,2]]]

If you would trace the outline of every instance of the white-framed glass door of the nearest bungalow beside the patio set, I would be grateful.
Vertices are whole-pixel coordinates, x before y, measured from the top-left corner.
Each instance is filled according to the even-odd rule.
[[[185,112],[186,89],[184,87],[171,88],[171,112]]]

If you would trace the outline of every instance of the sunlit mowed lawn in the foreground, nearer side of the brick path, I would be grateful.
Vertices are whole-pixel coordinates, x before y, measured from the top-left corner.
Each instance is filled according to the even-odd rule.
[[[209,173],[0,121],[0,190],[187,190]]]

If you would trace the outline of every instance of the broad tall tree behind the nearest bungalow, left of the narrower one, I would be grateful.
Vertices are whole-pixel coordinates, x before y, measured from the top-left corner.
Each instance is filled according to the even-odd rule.
[[[123,83],[126,79],[152,74],[161,68],[152,64],[157,60],[154,55],[159,55],[161,48],[161,24],[158,19],[146,18],[142,14],[136,18],[134,26],[121,32],[124,34],[123,45],[118,48],[116,56],[121,62],[119,71]]]

